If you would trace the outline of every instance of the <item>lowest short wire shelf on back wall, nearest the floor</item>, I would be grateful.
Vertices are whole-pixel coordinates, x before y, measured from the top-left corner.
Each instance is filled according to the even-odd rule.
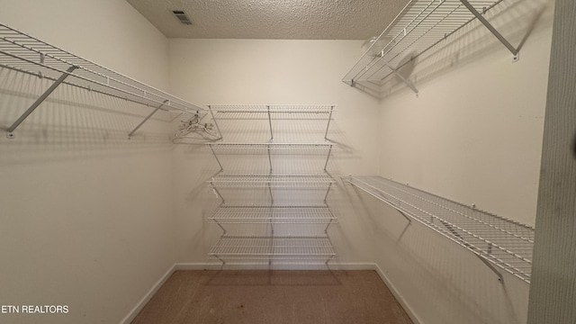
[[[223,236],[208,253],[229,259],[331,259],[336,254],[327,237],[229,237]]]

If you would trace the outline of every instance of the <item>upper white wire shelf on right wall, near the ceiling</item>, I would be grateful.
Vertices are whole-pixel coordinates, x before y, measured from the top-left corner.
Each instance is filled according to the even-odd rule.
[[[479,19],[515,56],[515,49],[483,14],[502,0],[411,0],[342,79],[348,85],[383,85],[397,70],[464,25]],[[475,12],[474,12],[475,11]],[[412,90],[410,80],[403,79]]]

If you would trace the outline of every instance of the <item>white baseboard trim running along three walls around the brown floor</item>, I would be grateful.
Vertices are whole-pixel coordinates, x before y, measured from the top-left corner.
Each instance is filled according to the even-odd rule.
[[[289,265],[291,267],[286,267],[284,265],[278,265],[277,269],[286,269],[286,270],[298,270],[298,269],[303,269],[304,265],[302,265],[302,267],[293,267],[294,265]],[[146,306],[146,304],[150,301],[150,299],[152,299],[152,296],[154,296],[155,293],[157,293],[158,289],[160,289],[160,287],[166,283],[166,280],[168,280],[168,278],[170,277],[170,275],[174,274],[175,271],[177,270],[219,270],[221,268],[221,264],[220,263],[176,263],[173,266],[171,266],[168,271],[166,271],[166,274],[162,275],[162,277],[157,281],[156,284],[154,284],[152,286],[152,288],[148,291],[148,293],[146,293],[146,295],[144,295],[144,297],[136,304],[136,306],[128,313],[128,315],[126,315],[126,317],[120,321],[121,324],[130,324],[130,322],[132,320],[134,320],[136,318],[136,316],[138,315],[138,313],[140,311],[142,311],[142,309],[144,308],[144,306]],[[259,269],[259,268],[263,268],[263,269],[269,269],[269,266],[263,266],[262,264],[231,264],[231,265],[227,265],[224,267],[224,269],[226,270],[255,270],[255,269]],[[394,285],[390,282],[390,280],[388,279],[388,277],[383,273],[382,269],[380,268],[380,266],[378,266],[375,263],[329,263],[329,266],[327,267],[325,264],[319,264],[319,265],[308,265],[308,267],[306,268],[306,270],[349,270],[349,271],[353,271],[353,270],[374,270],[382,279],[382,281],[384,282],[384,284],[386,284],[386,286],[388,286],[388,289],[390,289],[390,291],[392,292],[392,294],[394,295],[394,297],[396,298],[396,300],[398,302],[400,302],[402,308],[404,309],[404,311],[406,311],[406,313],[408,314],[408,316],[410,317],[410,320],[412,320],[412,322],[414,324],[422,324],[422,321],[419,320],[418,316],[410,309],[410,306],[408,305],[408,303],[406,303],[406,301],[402,298],[402,295],[400,293],[398,293],[398,291],[396,290],[396,288],[394,287]]]

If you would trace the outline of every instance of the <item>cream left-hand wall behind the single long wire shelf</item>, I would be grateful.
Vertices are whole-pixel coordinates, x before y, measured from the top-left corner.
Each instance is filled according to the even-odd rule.
[[[168,87],[167,42],[121,0],[0,1],[0,21]],[[49,86],[0,70],[6,128]],[[170,125],[149,109],[61,86],[0,137],[0,304],[67,305],[3,323],[120,321],[175,262]],[[145,136],[144,136],[145,135]]]

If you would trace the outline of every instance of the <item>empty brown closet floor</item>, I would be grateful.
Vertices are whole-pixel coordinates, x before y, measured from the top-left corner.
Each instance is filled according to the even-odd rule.
[[[411,324],[374,271],[176,271],[132,323]]]

